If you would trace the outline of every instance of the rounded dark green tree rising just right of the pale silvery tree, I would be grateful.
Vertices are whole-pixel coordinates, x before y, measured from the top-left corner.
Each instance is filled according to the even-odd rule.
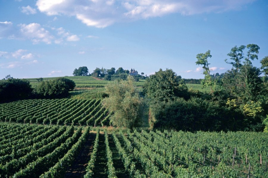
[[[160,69],[151,75],[144,85],[144,90],[152,103],[173,101],[176,97],[184,97],[188,91],[184,81],[177,78],[172,69]]]

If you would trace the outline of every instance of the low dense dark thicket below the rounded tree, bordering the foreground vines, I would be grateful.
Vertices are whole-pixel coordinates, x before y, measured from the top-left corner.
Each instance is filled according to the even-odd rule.
[[[178,98],[168,103],[154,104],[151,106],[151,111],[155,118],[155,128],[165,126],[183,131],[233,130],[235,129],[233,125],[237,125],[241,118],[236,115],[237,121],[233,122],[230,111],[225,107],[217,102],[195,97],[187,101]],[[233,124],[230,125],[229,121]]]

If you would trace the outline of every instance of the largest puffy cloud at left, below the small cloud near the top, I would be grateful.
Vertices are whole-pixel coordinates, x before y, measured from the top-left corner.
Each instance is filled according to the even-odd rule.
[[[31,39],[33,44],[37,44],[39,42],[45,42],[46,44],[51,44],[54,36],[49,33],[49,31],[45,30],[41,27],[39,23],[30,23],[20,24],[20,31],[22,36]]]

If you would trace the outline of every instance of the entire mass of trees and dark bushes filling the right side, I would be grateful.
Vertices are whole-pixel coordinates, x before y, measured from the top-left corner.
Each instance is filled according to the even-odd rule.
[[[205,75],[200,83],[209,87],[210,93],[188,90],[185,80],[172,69],[155,72],[144,86],[150,103],[151,127],[268,131],[268,56],[261,60],[261,68],[253,66],[251,61],[258,59],[258,50],[254,44],[233,47],[227,54],[230,61],[225,60],[233,68],[215,75],[209,69],[210,51],[197,54],[196,64],[202,65]],[[265,76],[260,77],[261,73]]]

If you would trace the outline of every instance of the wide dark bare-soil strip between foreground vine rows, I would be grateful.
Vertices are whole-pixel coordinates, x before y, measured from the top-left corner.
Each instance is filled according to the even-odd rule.
[[[81,150],[77,158],[75,158],[74,163],[72,163],[72,166],[70,166],[68,171],[66,172],[66,178],[84,177],[85,169],[88,165],[88,161],[90,160],[90,154],[93,150],[95,138],[96,134],[89,134],[88,140],[85,143],[83,150]]]

